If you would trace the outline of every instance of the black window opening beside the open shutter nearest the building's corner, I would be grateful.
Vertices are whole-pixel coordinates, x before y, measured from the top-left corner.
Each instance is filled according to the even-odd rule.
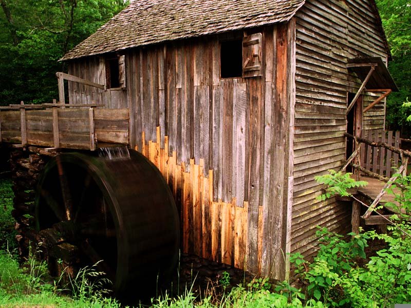
[[[221,78],[242,76],[242,40],[221,42]]]

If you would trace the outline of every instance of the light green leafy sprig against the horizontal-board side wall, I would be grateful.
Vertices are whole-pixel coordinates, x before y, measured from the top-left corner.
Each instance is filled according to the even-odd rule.
[[[337,172],[334,170],[328,170],[329,174],[323,176],[316,176],[315,180],[327,186],[325,194],[322,194],[317,197],[317,200],[324,201],[327,198],[330,198],[334,195],[340,195],[343,197],[351,196],[347,191],[350,188],[362,187],[368,183],[365,181],[356,181],[351,178],[349,172]]]

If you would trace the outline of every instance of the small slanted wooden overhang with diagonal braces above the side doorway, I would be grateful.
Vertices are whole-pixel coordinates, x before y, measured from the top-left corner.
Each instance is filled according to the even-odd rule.
[[[347,114],[352,109],[363,90],[367,92],[382,92],[380,97],[369,104],[363,112],[366,112],[378,104],[392,91],[398,92],[398,87],[381,57],[348,59],[347,68],[349,71],[356,73],[362,82],[357,94],[347,107]]]

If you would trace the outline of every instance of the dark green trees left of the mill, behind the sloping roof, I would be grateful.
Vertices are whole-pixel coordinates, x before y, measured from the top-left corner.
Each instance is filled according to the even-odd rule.
[[[0,105],[58,97],[58,60],[128,0],[0,0]]]

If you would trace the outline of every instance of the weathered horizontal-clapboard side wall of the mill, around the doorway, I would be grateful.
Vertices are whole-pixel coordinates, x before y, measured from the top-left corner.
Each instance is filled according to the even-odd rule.
[[[350,208],[334,199],[317,202],[314,176],[345,159],[347,92],[360,81],[346,69],[347,58],[386,59],[375,12],[364,0],[309,0],[296,14],[296,105],[291,252],[315,253],[316,226],[350,230]],[[364,106],[373,97],[364,98]],[[382,128],[384,105],[364,115],[363,129]]]

